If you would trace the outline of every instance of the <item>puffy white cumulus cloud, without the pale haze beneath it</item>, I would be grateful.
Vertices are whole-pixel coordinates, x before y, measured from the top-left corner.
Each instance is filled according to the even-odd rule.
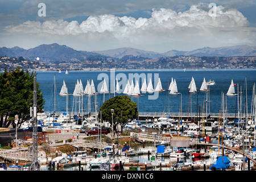
[[[245,16],[236,9],[222,6],[217,6],[216,16],[210,16],[209,10],[210,8],[205,8],[205,5],[200,3],[180,12],[164,8],[152,9],[150,18],[135,19],[131,16],[105,14],[89,16],[81,23],[61,19],[46,20],[42,23],[26,21],[18,26],[7,26],[5,30],[25,34],[81,36],[82,39],[91,39],[94,36],[97,39],[100,35],[102,41],[103,38],[114,38],[116,41],[129,40],[137,45],[167,45],[170,42],[184,44],[190,41],[189,46],[202,38],[208,42],[229,42],[235,35],[239,43],[242,36],[239,31],[248,24]],[[226,32],[230,31],[236,33],[228,35]]]

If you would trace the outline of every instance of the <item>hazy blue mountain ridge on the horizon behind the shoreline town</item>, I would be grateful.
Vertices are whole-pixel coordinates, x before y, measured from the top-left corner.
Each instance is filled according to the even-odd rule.
[[[171,50],[164,53],[143,51],[141,49],[123,47],[117,49],[110,49],[105,51],[76,51],[73,48],[65,45],[60,46],[57,43],[42,44],[38,47],[31,49],[23,49],[19,47],[13,48],[0,48],[0,56],[19,57],[22,56],[25,59],[34,60],[35,57],[40,57],[40,60],[45,61],[80,61],[89,58],[95,59],[108,59],[109,57],[121,58],[126,55],[148,57],[148,59],[156,59],[159,57],[170,56],[256,56],[256,46],[232,46],[232,47],[219,47],[210,48],[204,47],[193,51],[177,51]]]

